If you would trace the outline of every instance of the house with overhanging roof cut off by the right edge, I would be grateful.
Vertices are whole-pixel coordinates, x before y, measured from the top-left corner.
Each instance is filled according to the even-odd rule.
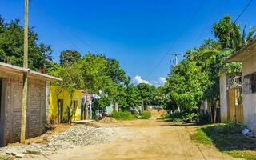
[[[230,55],[227,62],[242,62],[243,122],[256,133],[256,38]]]

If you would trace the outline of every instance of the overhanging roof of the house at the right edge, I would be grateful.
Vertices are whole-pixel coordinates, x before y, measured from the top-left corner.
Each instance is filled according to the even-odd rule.
[[[242,46],[241,49],[227,57],[226,62],[242,62],[245,58],[249,58],[253,54],[256,54],[256,36],[245,46]]]

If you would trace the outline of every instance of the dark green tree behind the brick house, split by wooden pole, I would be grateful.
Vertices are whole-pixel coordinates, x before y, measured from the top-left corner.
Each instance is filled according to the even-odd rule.
[[[9,23],[0,17],[0,61],[15,66],[23,65],[23,27],[18,19]],[[29,29],[29,67],[39,70],[52,61],[50,46],[38,43],[38,34],[33,28]]]

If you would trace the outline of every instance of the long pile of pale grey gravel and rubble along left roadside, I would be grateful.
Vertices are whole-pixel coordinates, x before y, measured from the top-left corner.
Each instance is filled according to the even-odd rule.
[[[73,148],[74,146],[102,144],[110,141],[111,134],[114,134],[114,131],[110,128],[75,125],[60,134],[53,135],[48,139],[48,142],[0,147],[0,155],[5,153],[16,158],[22,158],[26,154],[39,155],[47,152],[54,153],[57,150]]]

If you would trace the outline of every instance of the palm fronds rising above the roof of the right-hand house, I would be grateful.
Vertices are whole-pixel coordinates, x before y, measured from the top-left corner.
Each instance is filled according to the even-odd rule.
[[[253,38],[256,33],[255,27],[250,27],[248,34],[246,35],[246,26],[243,28],[242,32],[240,26],[234,24],[234,37],[231,39],[231,47],[234,50],[239,50],[242,46],[246,45],[251,38]]]

